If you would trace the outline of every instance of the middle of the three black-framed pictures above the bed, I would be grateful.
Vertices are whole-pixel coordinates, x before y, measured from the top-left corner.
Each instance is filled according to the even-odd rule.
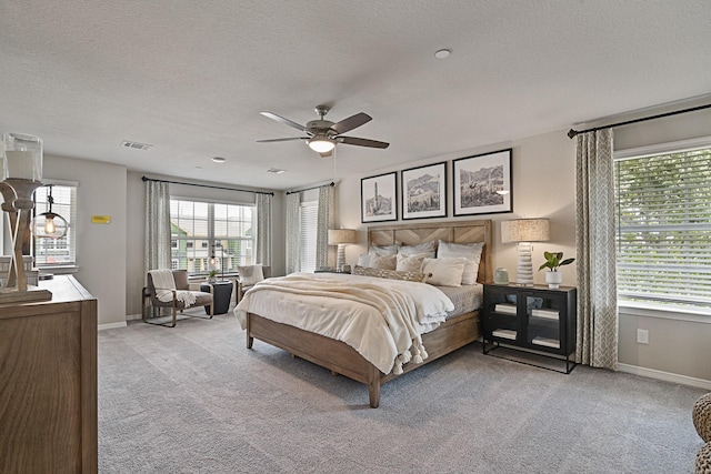
[[[402,220],[447,218],[447,163],[401,171]]]

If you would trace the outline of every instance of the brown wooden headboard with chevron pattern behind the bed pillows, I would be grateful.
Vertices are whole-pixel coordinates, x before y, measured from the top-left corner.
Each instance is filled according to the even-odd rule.
[[[480,283],[493,281],[493,262],[491,249],[493,244],[491,220],[425,222],[413,224],[372,225],[368,228],[368,245],[415,245],[439,240],[454,243],[483,242],[481,263],[479,264]]]

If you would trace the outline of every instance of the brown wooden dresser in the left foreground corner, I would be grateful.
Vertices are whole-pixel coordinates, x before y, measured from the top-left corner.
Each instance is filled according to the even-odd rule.
[[[0,304],[0,473],[96,473],[97,300],[40,286],[51,301]]]

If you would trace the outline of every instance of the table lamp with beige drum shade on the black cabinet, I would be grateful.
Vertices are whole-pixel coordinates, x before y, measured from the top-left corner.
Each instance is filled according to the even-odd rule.
[[[533,285],[533,264],[531,261],[531,242],[543,242],[550,239],[550,221],[548,219],[515,219],[501,222],[501,242],[519,244],[519,268],[515,282],[519,286]]]

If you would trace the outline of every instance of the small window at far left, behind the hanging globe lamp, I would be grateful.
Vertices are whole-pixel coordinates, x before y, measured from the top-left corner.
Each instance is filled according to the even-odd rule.
[[[77,183],[46,180],[52,184],[52,212],[68,222],[67,233],[61,239],[34,238],[34,266],[57,271],[77,266]],[[49,211],[47,196],[49,186],[34,191],[34,215]]]

